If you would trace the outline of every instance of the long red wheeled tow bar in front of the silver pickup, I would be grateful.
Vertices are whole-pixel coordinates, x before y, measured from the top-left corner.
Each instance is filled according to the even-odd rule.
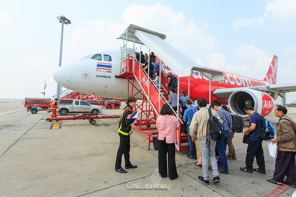
[[[94,119],[104,119],[104,118],[120,118],[120,115],[96,115],[94,113],[89,113],[89,114],[78,114],[78,115],[73,115],[70,117],[49,117],[46,118],[46,121],[52,122],[52,121],[60,121],[60,120],[89,120],[89,123],[95,124],[96,121]]]

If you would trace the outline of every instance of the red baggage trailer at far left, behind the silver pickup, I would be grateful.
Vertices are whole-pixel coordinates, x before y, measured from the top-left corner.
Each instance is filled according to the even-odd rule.
[[[38,111],[49,111],[51,101],[50,98],[25,98],[25,103],[22,104],[27,108],[27,112],[36,114]]]

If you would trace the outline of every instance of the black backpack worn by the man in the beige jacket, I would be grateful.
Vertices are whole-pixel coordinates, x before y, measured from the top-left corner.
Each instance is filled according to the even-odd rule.
[[[208,109],[208,111],[209,111],[210,118],[207,120],[207,123],[210,126],[212,140],[221,141],[225,135],[225,131],[223,129],[223,126],[218,121],[218,119],[212,115],[211,109]]]

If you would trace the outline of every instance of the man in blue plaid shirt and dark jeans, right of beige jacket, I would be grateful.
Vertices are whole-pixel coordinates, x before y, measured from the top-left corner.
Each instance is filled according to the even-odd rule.
[[[225,111],[222,108],[221,102],[218,100],[215,100],[213,102],[214,109],[217,111],[217,114],[222,119],[223,123],[223,129],[225,131],[225,135],[222,139],[222,141],[216,142],[216,147],[219,152],[219,159],[218,159],[218,170],[219,173],[228,174],[228,163],[227,163],[227,157],[226,157],[226,146],[229,140],[229,131],[232,128],[232,118],[231,114],[227,111]]]

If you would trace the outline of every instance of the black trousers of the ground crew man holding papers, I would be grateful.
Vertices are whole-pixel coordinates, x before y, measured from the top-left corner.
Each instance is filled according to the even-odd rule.
[[[122,155],[124,154],[124,161],[126,162],[125,166],[130,166],[131,162],[129,160],[129,152],[131,149],[131,140],[130,140],[130,135],[126,136],[121,133],[119,133],[120,137],[120,142],[119,142],[119,147],[116,155],[116,162],[115,162],[115,169],[121,168],[121,158]]]

